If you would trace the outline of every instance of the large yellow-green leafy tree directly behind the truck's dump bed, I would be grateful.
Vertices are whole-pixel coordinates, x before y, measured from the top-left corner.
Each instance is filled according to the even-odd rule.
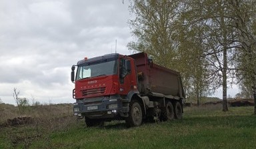
[[[130,50],[143,51],[151,55],[155,63],[181,72],[186,94],[196,91],[197,99],[205,92],[204,61],[199,58],[199,43],[193,50],[187,46],[193,32],[180,24],[180,1],[135,0],[131,2],[131,13],[135,19],[129,21],[131,33],[137,39],[128,44]],[[183,33],[182,35],[180,33]],[[195,41],[195,40],[194,40]],[[193,54],[192,54],[193,53]],[[193,69],[191,69],[193,67]],[[199,80],[203,79],[203,80]],[[196,83],[199,82],[199,83]]]

